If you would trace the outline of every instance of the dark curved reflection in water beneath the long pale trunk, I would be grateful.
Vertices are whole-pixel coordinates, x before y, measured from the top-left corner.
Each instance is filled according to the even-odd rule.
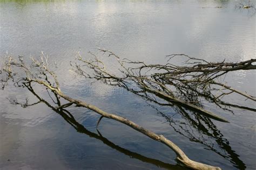
[[[86,134],[87,136],[91,137],[91,138],[95,138],[95,139],[98,139],[100,141],[102,141],[105,145],[113,148],[114,150],[120,152],[120,153],[123,153],[127,156],[129,156],[130,158],[133,158],[133,159],[137,159],[137,160],[140,160],[142,162],[146,162],[148,164],[152,164],[152,165],[156,165],[157,167],[160,167],[160,168],[165,168],[165,169],[188,169],[186,167],[183,167],[183,166],[180,166],[180,165],[172,165],[172,164],[167,164],[163,161],[160,161],[160,160],[157,160],[157,159],[152,159],[152,158],[148,158],[148,157],[145,157],[144,155],[141,155],[141,154],[138,154],[136,152],[132,152],[132,151],[129,151],[123,147],[120,147],[114,143],[112,143],[112,141],[108,140],[107,138],[103,137],[102,134],[100,134],[100,132],[97,130],[98,134],[97,133],[93,133],[89,130],[87,130],[82,124],[79,124],[75,117],[73,117],[73,115],[66,109],[56,109],[56,107],[53,107],[53,105],[51,105],[49,102],[47,102],[46,100],[44,100],[42,97],[40,97],[34,90],[33,88],[30,86],[30,84],[24,84],[24,86],[26,88],[28,88],[28,90],[38,98],[38,102],[36,103],[33,103],[33,104],[28,104],[28,100],[26,100],[26,103],[18,103],[17,101],[11,101],[9,100],[12,104],[18,104],[18,105],[21,105],[23,108],[26,108],[26,107],[30,107],[32,105],[36,105],[38,103],[44,103],[46,104],[49,108],[51,108],[53,111],[57,112],[57,114],[59,114],[60,116],[62,116],[66,122],[68,122],[74,129],[77,130],[77,132],[79,133],[83,133],[83,134]],[[55,95],[55,98],[56,98],[56,101],[53,100],[53,98],[51,97],[50,93],[48,93],[51,100],[57,104],[58,106],[60,106],[60,100],[59,98],[57,97],[56,94]]]

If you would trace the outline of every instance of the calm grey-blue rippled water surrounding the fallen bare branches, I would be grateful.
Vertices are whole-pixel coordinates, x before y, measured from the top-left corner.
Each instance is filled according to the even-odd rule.
[[[233,113],[206,103],[206,109],[231,123],[200,124],[191,114],[124,91],[113,93],[116,89],[100,82],[88,90],[87,80],[69,66],[79,50],[86,57],[88,51],[97,53],[96,47],[148,63],[164,63],[165,55],[172,53],[210,61],[255,58],[255,11],[237,9],[236,3],[2,0],[0,54],[3,57],[8,51],[29,58],[43,51],[58,63],[52,69],[66,94],[164,134],[193,160],[223,169],[254,169],[254,102],[236,95],[226,98],[251,108],[232,107]],[[255,71],[239,71],[225,81],[256,96],[255,78]],[[53,104],[44,88],[35,91]],[[174,152],[125,125],[103,119],[100,136],[99,116],[92,111],[73,107],[71,118],[45,103],[22,108],[7,98],[21,103],[28,98],[29,104],[38,101],[28,89],[11,84],[0,91],[0,169],[181,169]]]

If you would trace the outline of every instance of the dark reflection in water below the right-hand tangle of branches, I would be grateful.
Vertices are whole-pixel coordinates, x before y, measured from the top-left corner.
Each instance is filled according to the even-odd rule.
[[[240,156],[237,153],[235,153],[234,150],[232,150],[229,141],[226,138],[224,138],[224,135],[220,132],[220,130],[218,130],[217,126],[214,125],[210,118],[202,116],[197,112],[186,110],[185,108],[171,101],[169,103],[166,103],[166,101],[168,102],[166,98],[158,96],[160,100],[165,101],[165,103],[163,103],[157,100],[155,97],[152,97],[153,95],[151,96],[149,93],[145,92],[143,94],[141,93],[141,91],[138,92],[129,88],[126,88],[126,90],[131,91],[133,94],[136,94],[147,101],[156,103],[157,106],[173,108],[174,111],[182,117],[181,121],[177,121],[172,118],[176,114],[172,116],[166,115],[163,112],[161,112],[158,109],[158,107],[154,107],[153,104],[148,103],[153,109],[157,111],[159,115],[163,116],[166,119],[166,121],[169,122],[169,125],[173,128],[173,130],[181,134],[181,136],[188,138],[190,141],[194,141],[196,143],[205,145],[207,147],[205,148],[206,150],[211,150],[219,154],[221,157],[230,161],[234,167],[238,169],[246,169],[246,165],[244,164],[244,162],[239,159]],[[189,101],[200,101],[198,100],[198,96],[191,96],[193,97],[190,98]],[[253,108],[242,107],[239,105],[230,104],[222,101],[221,104],[227,105],[229,107],[256,111]],[[200,102],[198,102],[196,105],[203,108],[203,104],[201,104]],[[220,108],[228,110],[222,107]]]

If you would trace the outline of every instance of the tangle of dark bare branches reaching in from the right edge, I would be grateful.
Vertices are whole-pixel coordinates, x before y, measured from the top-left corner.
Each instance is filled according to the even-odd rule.
[[[106,68],[104,62],[92,53],[90,53],[94,58],[92,60],[85,60],[78,53],[78,62],[71,63],[71,65],[79,75],[86,78],[101,80],[106,84],[123,87],[133,93],[144,94],[144,96],[147,96],[146,93],[152,93],[160,98],[165,98],[168,102],[182,105],[221,122],[228,121],[199,107],[199,101],[195,101],[194,96],[203,96],[207,101],[214,102],[219,107],[225,103],[220,99],[231,93],[237,93],[256,101],[255,97],[218,82],[218,78],[228,72],[256,69],[256,66],[253,65],[256,59],[236,63],[225,61],[212,63],[191,58],[185,54],[172,54],[167,55],[169,60],[165,65],[146,65],[141,61],[121,60],[119,56],[105,49],[99,49],[99,51],[106,53],[109,57],[113,56],[119,65],[118,73],[112,73]],[[185,66],[176,66],[170,62],[177,56],[187,58]],[[138,87],[137,90],[134,90],[134,84]]]

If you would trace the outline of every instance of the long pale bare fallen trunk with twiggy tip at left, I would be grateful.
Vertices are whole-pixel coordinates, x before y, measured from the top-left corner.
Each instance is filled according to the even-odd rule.
[[[1,79],[3,89],[9,81],[14,82],[15,86],[19,87],[25,87],[25,84],[31,83],[42,84],[44,87],[53,91],[53,93],[55,93],[57,96],[64,98],[66,101],[69,102],[64,105],[58,105],[58,109],[63,109],[72,104],[75,104],[78,107],[90,109],[92,111],[95,111],[97,114],[102,115],[105,118],[110,118],[120,123],[126,124],[127,126],[130,126],[132,129],[145,134],[145,136],[165,144],[176,153],[177,160],[186,167],[190,167],[193,169],[220,169],[219,167],[201,164],[200,162],[196,162],[189,159],[186,156],[186,154],[182,150],[180,150],[180,148],[176,144],[172,143],[171,140],[165,138],[163,135],[159,135],[152,131],[149,131],[143,128],[142,126],[139,126],[136,123],[129,121],[126,118],[105,112],[104,110],[101,110],[92,104],[76,100],[75,98],[65,95],[60,90],[57,76],[48,68],[48,57],[42,54],[41,59],[37,60],[31,58],[31,60],[32,63],[29,66],[26,66],[23,60],[16,61],[9,55],[8,61],[5,62],[5,65],[1,70],[1,74],[3,75]]]

